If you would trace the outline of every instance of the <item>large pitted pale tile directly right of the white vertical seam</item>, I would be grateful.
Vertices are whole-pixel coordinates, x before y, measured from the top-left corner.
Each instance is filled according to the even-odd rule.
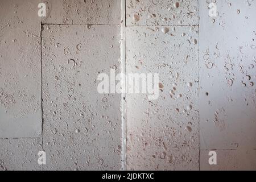
[[[127,73],[159,73],[159,97],[127,94],[127,169],[199,169],[197,27],[127,27]]]

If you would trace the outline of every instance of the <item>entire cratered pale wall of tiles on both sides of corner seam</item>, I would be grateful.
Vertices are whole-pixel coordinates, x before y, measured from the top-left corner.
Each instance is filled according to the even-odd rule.
[[[0,1],[0,170],[256,169],[254,0],[39,2]],[[159,98],[98,93],[110,68]]]

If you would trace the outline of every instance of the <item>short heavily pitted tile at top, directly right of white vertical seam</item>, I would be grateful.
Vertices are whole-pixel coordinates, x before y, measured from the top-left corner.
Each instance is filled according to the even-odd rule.
[[[197,25],[197,6],[197,0],[127,0],[127,26]]]

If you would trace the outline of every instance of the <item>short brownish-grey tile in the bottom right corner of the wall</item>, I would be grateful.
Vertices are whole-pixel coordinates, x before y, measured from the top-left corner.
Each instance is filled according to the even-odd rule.
[[[202,171],[256,170],[256,150],[217,150],[217,165],[209,165],[208,150],[200,151]]]

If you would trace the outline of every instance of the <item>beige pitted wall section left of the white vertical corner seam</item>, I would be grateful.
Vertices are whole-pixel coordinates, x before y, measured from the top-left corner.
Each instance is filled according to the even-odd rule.
[[[121,2],[39,2],[0,2],[1,169],[121,169],[121,95],[97,92],[121,72]]]

